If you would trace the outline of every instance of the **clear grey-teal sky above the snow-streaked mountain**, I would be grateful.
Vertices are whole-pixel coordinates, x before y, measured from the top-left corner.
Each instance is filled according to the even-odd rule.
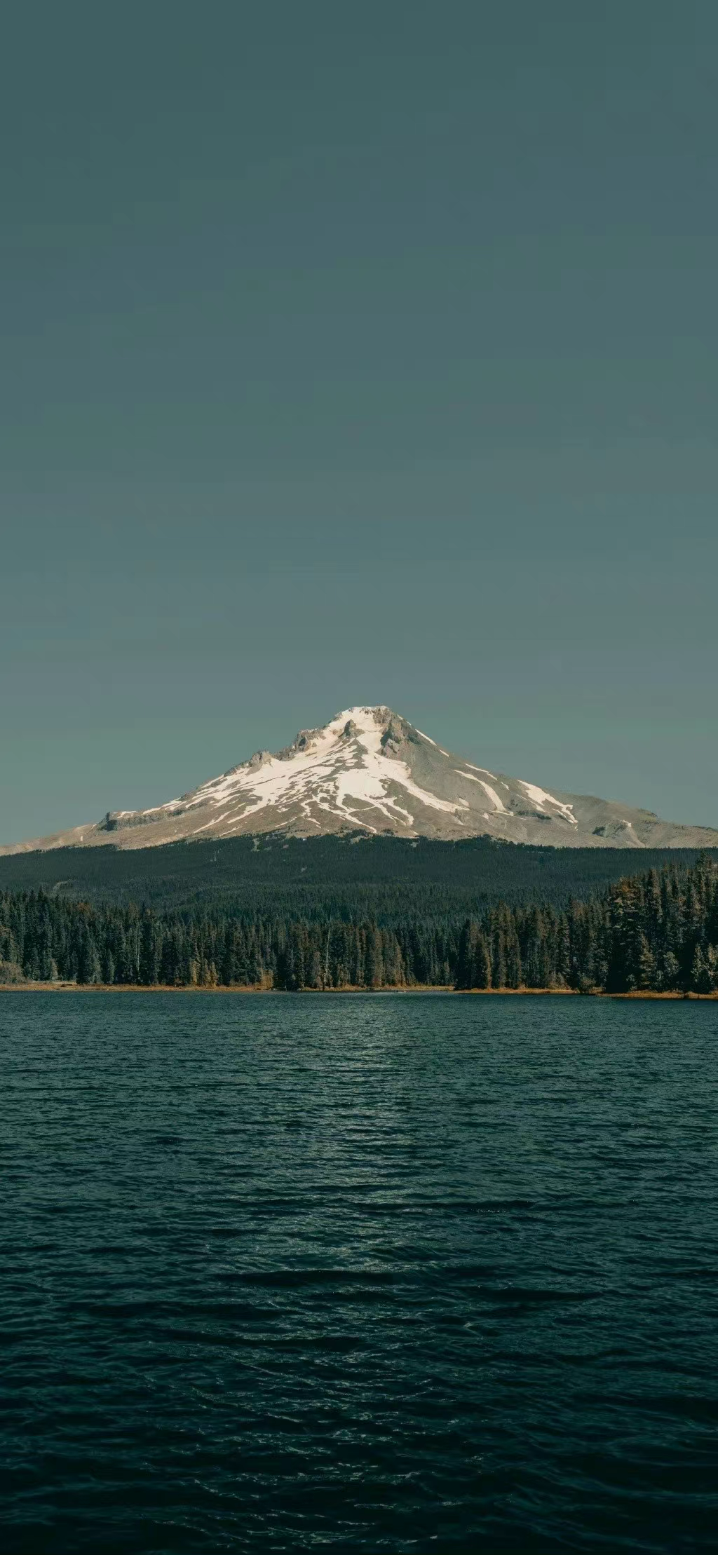
[[[718,826],[715,0],[11,0],[0,840],[336,711]]]

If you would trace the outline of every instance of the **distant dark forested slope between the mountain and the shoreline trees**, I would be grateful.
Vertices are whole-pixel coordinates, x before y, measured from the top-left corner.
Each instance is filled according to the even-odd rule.
[[[166,847],[56,847],[0,857],[0,891],[62,893],[84,902],[199,907],[228,917],[371,917],[399,905],[417,917],[474,916],[497,902],[564,907],[636,869],[693,865],[698,849],[530,847],[468,837],[233,837]],[[718,860],[718,851],[713,857]]]

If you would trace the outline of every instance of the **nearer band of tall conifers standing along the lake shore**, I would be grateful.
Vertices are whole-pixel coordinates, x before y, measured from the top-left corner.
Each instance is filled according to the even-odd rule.
[[[323,900],[323,905],[322,905]],[[39,891],[0,893],[0,981],[339,987],[718,991],[718,865],[670,863],[563,907],[494,902],[457,913],[455,894],[387,886],[381,914],[315,888],[274,905],[157,910]]]

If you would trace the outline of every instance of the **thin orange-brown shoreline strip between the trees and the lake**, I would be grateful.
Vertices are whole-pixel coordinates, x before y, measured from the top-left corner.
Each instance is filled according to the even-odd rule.
[[[214,983],[208,987],[199,987],[197,983],[0,983],[0,994],[275,994],[281,997],[288,992],[300,994],[455,994],[458,998],[471,998],[472,995],[494,995],[500,997],[510,995],[513,998],[668,998],[668,1000],[718,1000],[718,992],[715,994],[681,994],[678,991],[659,992],[657,989],[633,989],[629,994],[608,994],[605,989],[595,989],[587,994],[581,994],[577,987],[452,987],[451,984],[435,984],[435,983],[412,983],[410,987],[406,984],[390,984],[382,987],[359,987],[357,984],[343,984],[342,987],[305,987],[305,989],[281,989],[281,987],[258,987],[233,983],[232,986],[225,983]]]

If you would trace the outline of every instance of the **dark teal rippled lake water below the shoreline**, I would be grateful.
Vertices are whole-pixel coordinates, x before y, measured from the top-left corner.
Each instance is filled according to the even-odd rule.
[[[3,1549],[715,1550],[718,1006],[0,995]]]

